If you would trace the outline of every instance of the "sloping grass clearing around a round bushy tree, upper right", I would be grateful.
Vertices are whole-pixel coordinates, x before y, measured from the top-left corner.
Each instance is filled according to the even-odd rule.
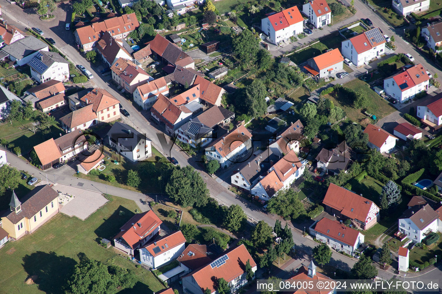
[[[348,87],[350,89],[353,89],[354,91],[363,89],[367,93],[370,99],[367,111],[376,115],[378,119],[381,119],[391,114],[392,112],[396,111],[396,108],[390,106],[387,103],[387,101],[385,101],[385,99],[383,99],[381,96],[377,95],[372,89],[370,89],[370,86],[366,82],[362,82],[359,79],[355,79],[351,82],[344,84],[344,87]],[[367,116],[362,113],[361,109],[353,108],[353,100],[343,93],[333,92],[331,93],[331,95],[326,95],[325,98],[330,98],[331,100],[333,100],[333,103],[335,103],[335,105],[338,105],[339,107],[343,108],[347,117],[354,122],[358,123],[362,119],[367,118]]]

